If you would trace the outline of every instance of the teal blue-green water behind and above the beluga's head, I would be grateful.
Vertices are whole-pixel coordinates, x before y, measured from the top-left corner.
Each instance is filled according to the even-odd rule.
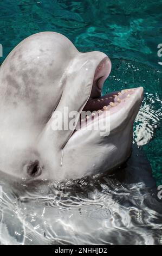
[[[157,184],[161,172],[162,1],[5,0],[0,3],[3,57],[27,36],[55,31],[81,52],[102,51],[112,60],[108,90],[143,86],[144,102],[135,122],[134,143],[145,151]],[[161,60],[160,60],[161,59]],[[140,135],[140,136],[139,136]]]

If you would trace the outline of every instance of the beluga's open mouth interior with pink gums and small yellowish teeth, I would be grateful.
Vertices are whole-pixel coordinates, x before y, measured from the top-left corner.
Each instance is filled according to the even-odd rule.
[[[101,96],[103,83],[111,70],[110,63],[108,58],[104,58],[96,68],[92,92],[80,114],[80,127],[112,114],[114,115],[114,118],[119,118],[120,115],[123,115],[123,119],[125,119],[124,114],[127,115],[127,112],[129,112],[130,109],[135,108],[135,106],[137,111],[134,110],[133,113],[138,112],[142,101],[142,87],[124,89]]]

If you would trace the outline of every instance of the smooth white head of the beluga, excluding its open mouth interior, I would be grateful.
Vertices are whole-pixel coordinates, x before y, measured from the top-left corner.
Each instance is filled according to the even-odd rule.
[[[67,179],[108,171],[131,153],[132,126],[142,88],[111,117],[109,136],[99,131],[54,131],[55,111],[82,111],[95,70],[106,59],[102,84],[111,61],[102,52],[80,53],[65,36],[42,32],[18,44],[0,68],[0,170],[27,180]],[[98,93],[97,93],[98,94]],[[62,121],[62,120],[60,120]],[[39,166],[36,176],[31,166]]]

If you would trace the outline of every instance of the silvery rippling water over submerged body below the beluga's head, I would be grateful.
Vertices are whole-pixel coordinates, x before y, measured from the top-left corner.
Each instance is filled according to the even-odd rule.
[[[111,176],[12,188],[2,178],[1,186],[1,244],[162,245],[161,203],[135,146]]]

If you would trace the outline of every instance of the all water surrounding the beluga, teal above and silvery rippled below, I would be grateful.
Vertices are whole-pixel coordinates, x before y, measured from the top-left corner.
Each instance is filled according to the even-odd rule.
[[[29,191],[17,186],[13,191],[0,179],[0,244],[162,244],[161,203],[153,197],[157,191],[145,186],[154,187],[150,172],[162,185],[162,57],[157,55],[162,1],[5,0],[0,10],[0,63],[27,36],[55,31],[81,52],[108,54],[112,72],[103,94],[145,90],[133,153],[117,176],[35,185]]]

